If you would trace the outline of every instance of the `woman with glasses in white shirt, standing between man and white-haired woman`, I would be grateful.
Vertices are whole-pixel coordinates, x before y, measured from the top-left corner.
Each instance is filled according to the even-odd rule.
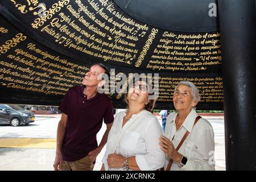
[[[115,116],[109,132],[101,170],[156,170],[164,165],[165,155],[158,144],[162,128],[152,114],[154,95],[144,81],[134,81],[125,101],[127,111]]]

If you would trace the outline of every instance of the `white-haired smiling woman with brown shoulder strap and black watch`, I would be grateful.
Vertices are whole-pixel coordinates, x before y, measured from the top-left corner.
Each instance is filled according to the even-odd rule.
[[[166,131],[159,144],[166,153],[166,171],[214,170],[214,133],[210,123],[195,110],[199,90],[181,81],[174,91],[177,112],[167,117]]]

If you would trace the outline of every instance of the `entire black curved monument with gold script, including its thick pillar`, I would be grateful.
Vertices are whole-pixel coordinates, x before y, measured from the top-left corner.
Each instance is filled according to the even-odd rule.
[[[225,110],[226,169],[256,169],[254,45],[254,0],[0,0],[0,102],[59,105],[93,63],[110,90],[158,73],[157,109],[192,81],[197,109]]]

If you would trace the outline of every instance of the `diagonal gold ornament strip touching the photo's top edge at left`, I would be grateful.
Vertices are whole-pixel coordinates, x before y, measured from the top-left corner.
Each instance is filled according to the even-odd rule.
[[[46,20],[51,19],[55,13],[59,12],[61,7],[64,7],[64,5],[68,5],[68,3],[69,0],[61,0],[57,3],[54,3],[49,10],[45,11],[44,16],[36,18],[31,26],[36,29],[39,28],[44,24],[44,22],[46,22]]]

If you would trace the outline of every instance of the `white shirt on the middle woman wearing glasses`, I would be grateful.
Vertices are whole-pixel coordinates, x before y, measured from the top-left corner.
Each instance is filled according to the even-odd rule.
[[[162,128],[158,119],[149,111],[143,110],[134,114],[122,128],[126,111],[115,115],[112,128],[109,131],[106,152],[102,163],[106,170],[123,168],[109,168],[106,159],[109,154],[120,154],[126,157],[135,156],[138,167],[142,170],[156,170],[164,166],[165,154],[160,149],[159,137]]]

